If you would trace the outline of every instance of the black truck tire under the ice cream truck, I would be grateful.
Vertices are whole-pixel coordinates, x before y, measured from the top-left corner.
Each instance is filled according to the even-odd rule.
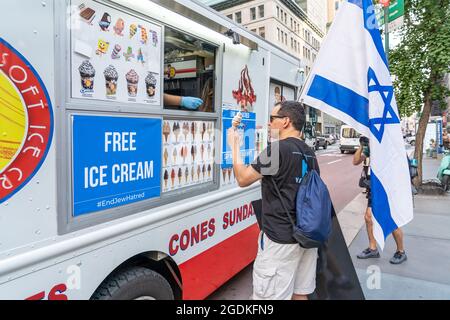
[[[91,300],[174,300],[174,294],[159,273],[133,267],[106,278]]]

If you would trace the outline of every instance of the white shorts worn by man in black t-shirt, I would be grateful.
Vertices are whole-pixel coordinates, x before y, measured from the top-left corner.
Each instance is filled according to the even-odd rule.
[[[292,294],[308,295],[316,289],[317,248],[279,244],[258,237],[253,265],[253,300],[291,300]]]

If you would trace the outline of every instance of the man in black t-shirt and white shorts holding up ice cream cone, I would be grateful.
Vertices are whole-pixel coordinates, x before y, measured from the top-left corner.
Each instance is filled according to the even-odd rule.
[[[261,180],[262,225],[258,255],[253,266],[253,299],[304,300],[315,290],[317,249],[303,249],[292,237],[292,224],[273,186],[277,184],[283,202],[295,221],[296,195],[306,173],[306,158],[314,152],[300,139],[306,122],[302,104],[284,101],[270,115],[271,137],[258,158],[245,166],[240,157],[239,136],[232,128],[228,143],[233,154],[233,170],[241,187]]]

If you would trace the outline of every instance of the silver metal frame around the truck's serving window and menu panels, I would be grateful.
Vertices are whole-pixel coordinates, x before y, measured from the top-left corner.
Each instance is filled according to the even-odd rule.
[[[161,196],[149,200],[143,200],[140,202],[131,203],[128,205],[123,205],[116,208],[99,210],[93,213],[88,213],[78,217],[74,217],[72,214],[73,210],[73,154],[72,154],[72,117],[74,115],[89,115],[89,116],[108,116],[108,117],[130,117],[130,118],[154,118],[161,119],[164,123],[166,120],[180,120],[180,121],[213,121],[215,123],[215,130],[221,128],[221,110],[218,106],[221,105],[222,100],[222,81],[223,81],[223,44],[212,43],[205,39],[202,39],[198,35],[189,34],[186,31],[180,30],[176,26],[172,26],[154,18],[150,18],[145,14],[140,14],[132,9],[125,8],[117,3],[112,3],[105,0],[94,0],[100,5],[111,7],[113,10],[118,10],[124,14],[131,15],[139,20],[145,22],[150,22],[161,27],[161,65],[160,65],[160,83],[161,83],[161,103],[159,106],[148,106],[144,104],[128,104],[125,105],[121,102],[112,101],[101,101],[101,100],[88,100],[88,99],[77,99],[73,98],[71,94],[71,81],[76,81],[71,73],[71,50],[72,50],[72,32],[66,31],[67,16],[63,16],[55,22],[58,29],[56,39],[56,45],[59,46],[57,52],[60,54],[55,55],[56,65],[63,65],[66,68],[61,68],[59,72],[55,75],[57,83],[63,83],[64,86],[61,90],[56,93],[56,115],[57,120],[56,126],[56,141],[57,141],[57,158],[60,159],[57,163],[58,167],[58,234],[63,235],[71,233],[74,231],[82,230],[92,226],[96,226],[105,222],[127,217],[144,210],[150,210],[159,206],[164,206],[170,204],[174,201],[185,200],[198,196],[207,192],[217,191],[220,188],[220,152],[221,150],[221,137],[215,135],[214,137],[214,148],[215,152],[215,163],[212,171],[213,182],[202,183],[196,186],[185,187],[174,191],[163,192],[161,179]],[[62,6],[67,8],[72,3],[72,0],[61,1]],[[57,7],[61,6],[60,3],[55,4]],[[56,9],[57,12],[62,12],[62,10]],[[65,10],[64,10],[65,11]],[[58,16],[58,15],[56,15]],[[214,81],[215,81],[215,96],[214,104],[216,106],[214,112],[198,112],[198,111],[187,111],[187,110],[170,110],[164,108],[164,48],[165,48],[165,27],[170,27],[181,33],[190,35],[197,38],[203,42],[208,43],[213,46],[215,51],[215,70],[214,70]],[[220,76],[219,76],[220,75]],[[162,133],[161,133],[162,139]],[[163,147],[162,147],[163,148]],[[161,150],[162,155],[162,150]],[[161,164],[163,159],[160,159]],[[161,172],[157,173],[161,174]],[[70,178],[66,178],[70,177]]]

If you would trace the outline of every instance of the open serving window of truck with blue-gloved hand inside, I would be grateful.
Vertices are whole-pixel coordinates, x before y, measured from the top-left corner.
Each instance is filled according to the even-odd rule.
[[[169,27],[164,41],[164,108],[214,112],[216,47]]]

